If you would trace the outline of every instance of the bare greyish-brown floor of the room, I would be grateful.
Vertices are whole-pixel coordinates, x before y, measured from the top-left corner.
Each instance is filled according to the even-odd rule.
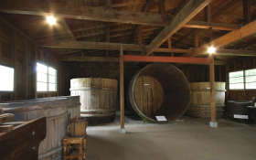
[[[144,124],[126,119],[88,128],[87,160],[255,160],[256,126],[219,121],[212,129],[197,119]]]

